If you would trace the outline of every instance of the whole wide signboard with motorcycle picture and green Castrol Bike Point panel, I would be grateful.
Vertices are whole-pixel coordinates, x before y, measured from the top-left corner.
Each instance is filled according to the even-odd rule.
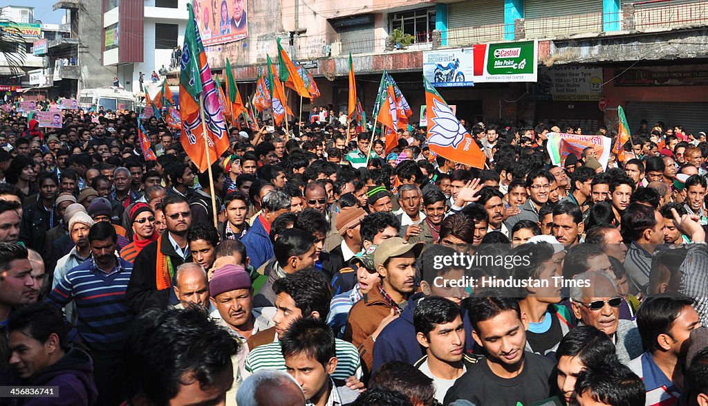
[[[460,55],[464,55],[464,62]],[[470,65],[472,72],[469,72]],[[464,80],[456,80],[457,71],[462,72]],[[535,82],[538,78],[538,43],[479,44],[472,48],[423,52],[423,74],[436,87]]]

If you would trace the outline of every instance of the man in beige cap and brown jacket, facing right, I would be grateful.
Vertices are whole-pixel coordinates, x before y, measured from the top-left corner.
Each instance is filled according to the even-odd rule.
[[[374,342],[386,325],[398,317],[416,291],[416,258],[422,243],[410,244],[401,237],[384,240],[374,253],[374,266],[381,283],[372,288],[349,312],[344,339],[359,349],[359,355],[371,371]]]

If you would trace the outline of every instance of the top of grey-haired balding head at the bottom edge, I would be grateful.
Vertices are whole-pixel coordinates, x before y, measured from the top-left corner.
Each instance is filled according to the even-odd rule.
[[[241,383],[236,403],[239,406],[302,406],[305,396],[289,373],[267,369],[254,373]]]

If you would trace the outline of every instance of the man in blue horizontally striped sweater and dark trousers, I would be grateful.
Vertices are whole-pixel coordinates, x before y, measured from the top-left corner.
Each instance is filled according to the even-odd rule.
[[[125,301],[132,264],[116,255],[117,241],[110,222],[91,226],[92,258],[69,270],[47,298],[59,308],[76,303],[76,329],[93,359],[98,405],[120,403],[122,344],[133,320]]]

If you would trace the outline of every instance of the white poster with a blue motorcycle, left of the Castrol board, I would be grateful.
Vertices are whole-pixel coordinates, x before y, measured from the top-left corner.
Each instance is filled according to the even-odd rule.
[[[474,86],[472,48],[423,52],[423,75],[435,87]]]

